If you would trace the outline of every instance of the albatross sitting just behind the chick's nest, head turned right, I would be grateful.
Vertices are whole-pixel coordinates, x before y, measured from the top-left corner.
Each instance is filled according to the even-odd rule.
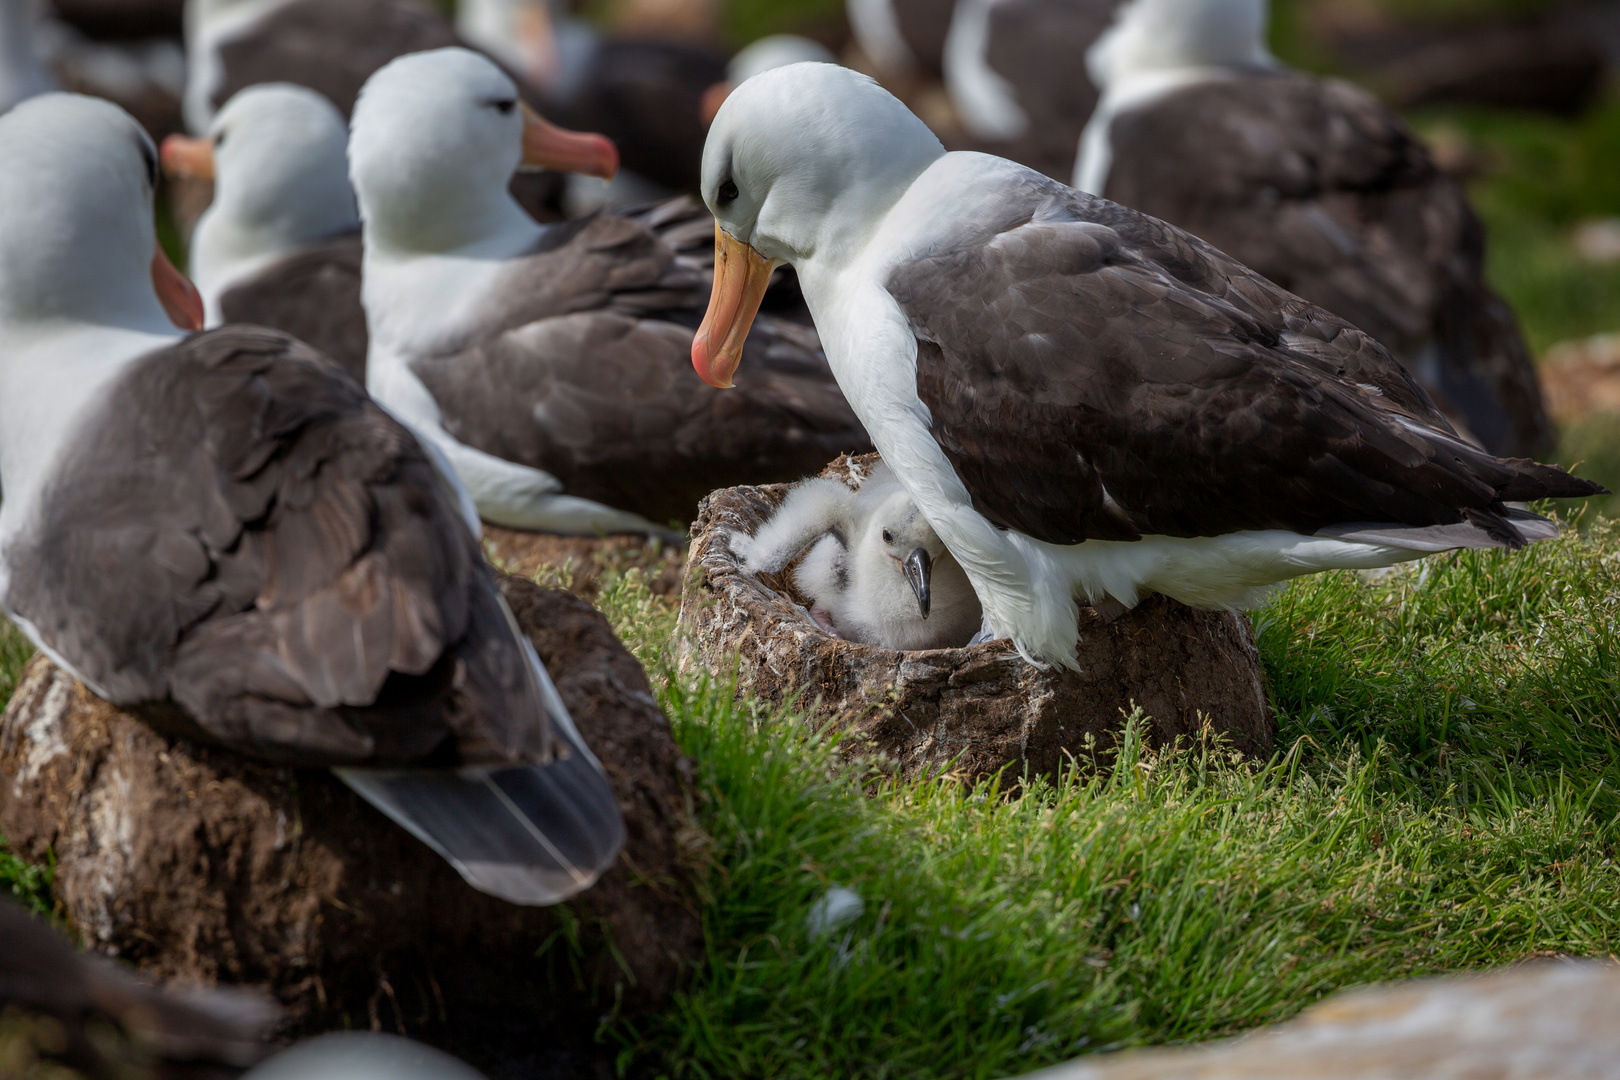
[[[651,533],[867,445],[808,327],[761,322],[747,400],[693,382],[708,275],[624,217],[530,220],[505,186],[523,133],[512,79],[444,49],[377,71],[350,136],[366,385],[488,521]]]

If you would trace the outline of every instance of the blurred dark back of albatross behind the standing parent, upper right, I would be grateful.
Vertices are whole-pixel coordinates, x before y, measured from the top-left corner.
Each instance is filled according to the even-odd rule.
[[[1256,73],[1121,113],[1106,196],[1179,225],[1401,356],[1495,453],[1550,447],[1461,188],[1341,81]]]

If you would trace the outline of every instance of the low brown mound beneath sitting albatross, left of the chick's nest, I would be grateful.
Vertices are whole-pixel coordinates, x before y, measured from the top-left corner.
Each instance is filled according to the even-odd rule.
[[[520,578],[536,575],[575,596],[595,601],[609,570],[640,568],[654,596],[677,596],[684,555],[680,549],[643,536],[557,536],[484,525],[484,555]]]

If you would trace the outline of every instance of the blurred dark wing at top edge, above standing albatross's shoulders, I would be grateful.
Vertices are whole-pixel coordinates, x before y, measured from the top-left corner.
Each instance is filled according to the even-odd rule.
[[[1068,181],[1081,131],[1097,107],[1085,50],[1113,21],[1116,0],[1003,0],[990,8],[985,62],[1011,83],[1029,131],[1003,157]]]

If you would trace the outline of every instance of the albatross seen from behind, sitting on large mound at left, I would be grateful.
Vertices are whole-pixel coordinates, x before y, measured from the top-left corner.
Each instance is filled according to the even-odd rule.
[[[183,335],[157,151],[50,94],[0,118],[0,601],[102,698],[332,766],[475,887],[552,904],[624,840],[429,453],[293,338]],[[167,313],[167,316],[165,316]]]

